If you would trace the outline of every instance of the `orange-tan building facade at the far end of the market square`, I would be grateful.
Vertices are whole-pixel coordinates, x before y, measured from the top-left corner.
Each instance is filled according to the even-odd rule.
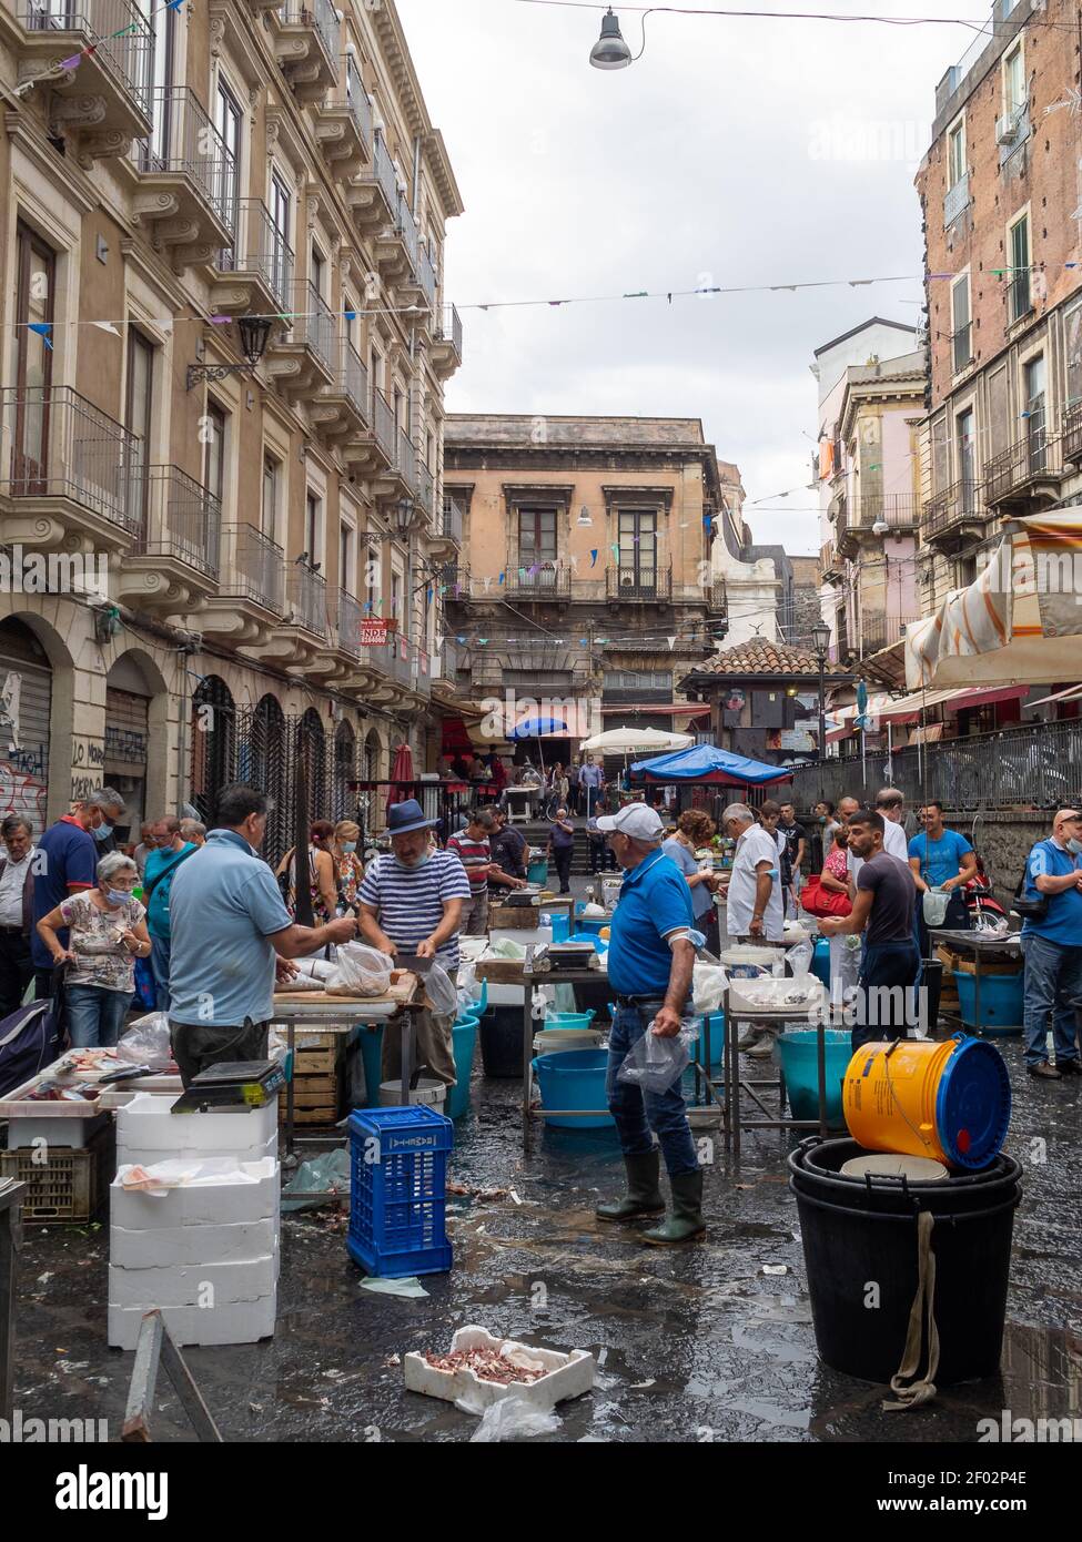
[[[712,546],[742,497],[702,424],[451,413],[445,456],[460,688],[512,722],[560,703],[556,759],[605,728],[693,726],[675,682],[725,634]]]

